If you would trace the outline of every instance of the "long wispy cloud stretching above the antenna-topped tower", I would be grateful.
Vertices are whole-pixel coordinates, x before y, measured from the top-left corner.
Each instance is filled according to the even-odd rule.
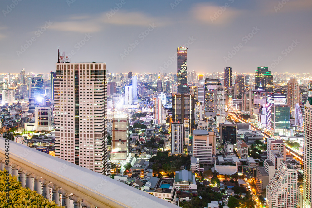
[[[166,23],[165,23],[166,22]],[[168,24],[160,18],[149,17],[140,12],[116,12],[111,15],[109,12],[103,12],[100,15],[81,15],[72,16],[62,22],[54,22],[51,29],[57,31],[69,31],[79,33],[98,32],[110,25],[129,25],[129,26],[149,26],[155,23],[157,26]]]

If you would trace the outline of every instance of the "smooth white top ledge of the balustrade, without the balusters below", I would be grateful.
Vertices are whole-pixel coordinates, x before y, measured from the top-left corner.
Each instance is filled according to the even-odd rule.
[[[0,137],[0,157],[5,157]],[[38,150],[9,141],[9,160],[98,207],[178,207],[144,191]]]

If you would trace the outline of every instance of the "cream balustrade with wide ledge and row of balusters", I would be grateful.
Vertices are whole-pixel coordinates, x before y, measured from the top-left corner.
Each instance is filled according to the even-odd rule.
[[[0,137],[0,169],[56,204],[72,207],[177,207],[124,183]],[[5,151],[7,150],[8,151]],[[5,153],[9,154],[5,154]],[[5,163],[8,157],[9,163]],[[52,199],[51,193],[52,191]]]

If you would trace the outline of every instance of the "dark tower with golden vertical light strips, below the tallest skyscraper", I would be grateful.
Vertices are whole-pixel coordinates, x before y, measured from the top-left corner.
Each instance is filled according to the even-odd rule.
[[[194,95],[172,94],[172,122],[183,123],[184,119],[190,119],[191,129],[194,127]],[[192,132],[191,132],[192,134]],[[192,136],[192,135],[191,135]]]

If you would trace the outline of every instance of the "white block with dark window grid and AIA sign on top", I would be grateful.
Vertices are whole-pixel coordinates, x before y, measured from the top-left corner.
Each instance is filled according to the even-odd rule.
[[[52,131],[53,125],[53,105],[40,105],[35,108],[36,120],[35,127],[36,131]]]

